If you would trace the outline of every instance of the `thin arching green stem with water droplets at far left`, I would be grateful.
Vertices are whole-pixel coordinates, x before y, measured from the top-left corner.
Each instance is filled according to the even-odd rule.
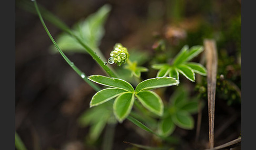
[[[45,23],[44,23],[44,20],[42,18],[42,15],[37,7],[37,3],[36,1],[34,1],[34,4],[35,4],[35,8],[36,8],[36,12],[41,20],[41,23],[47,33],[47,35],[50,37],[50,39],[52,40],[53,44],[55,45],[55,47],[57,48],[57,50],[61,53],[61,56],[66,60],[66,62],[68,63],[68,65],[70,65],[70,67],[72,67],[72,69],[74,69],[74,71],[86,82],[88,83],[89,85],[91,85],[91,87],[95,90],[95,91],[100,91],[101,88],[98,87],[96,84],[94,84],[92,81],[88,80],[87,79],[87,76],[85,75],[84,72],[82,72],[80,69],[78,69],[74,63],[72,61],[70,61],[70,59],[68,59],[66,57],[66,55],[63,53],[63,51],[60,49],[60,47],[58,47],[58,45],[56,44],[55,40],[53,39],[52,35],[50,34],[49,30],[47,29]]]

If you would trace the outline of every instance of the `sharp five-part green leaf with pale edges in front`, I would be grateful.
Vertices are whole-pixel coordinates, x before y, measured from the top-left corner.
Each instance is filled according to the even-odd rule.
[[[130,114],[135,97],[146,109],[161,116],[163,102],[156,93],[149,90],[179,84],[178,80],[170,77],[152,78],[139,83],[134,90],[130,83],[117,78],[94,75],[88,77],[88,79],[107,87],[112,87],[97,92],[90,102],[90,107],[117,97],[113,104],[113,110],[119,122],[122,122]]]

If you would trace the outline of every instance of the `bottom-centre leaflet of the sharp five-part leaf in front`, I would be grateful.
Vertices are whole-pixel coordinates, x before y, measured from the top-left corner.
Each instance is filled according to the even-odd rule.
[[[113,109],[114,114],[119,122],[130,114],[134,102],[134,93],[123,93],[116,98]]]

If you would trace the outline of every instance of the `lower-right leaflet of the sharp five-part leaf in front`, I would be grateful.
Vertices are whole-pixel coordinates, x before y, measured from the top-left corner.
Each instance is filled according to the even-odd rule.
[[[152,91],[141,91],[136,94],[136,97],[149,111],[160,116],[163,114],[163,102],[156,93]]]

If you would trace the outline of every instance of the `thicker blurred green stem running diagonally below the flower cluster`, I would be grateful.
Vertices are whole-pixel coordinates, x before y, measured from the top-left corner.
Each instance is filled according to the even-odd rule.
[[[34,4],[36,6],[36,12],[38,14],[39,12],[39,9],[38,9],[38,6],[37,6],[37,3],[36,1],[34,1]],[[42,8],[41,8],[42,9]],[[103,68],[103,70],[109,74],[110,77],[113,77],[113,78],[117,78],[117,75],[116,73],[111,70],[110,67],[108,67],[107,65],[105,65],[105,62],[103,62],[102,59],[100,59],[99,56],[97,56],[97,54],[90,48],[88,47],[84,41],[78,37],[77,35],[75,35],[72,30],[70,28],[68,28],[63,22],[61,22],[60,19],[58,19],[57,17],[54,17],[51,13],[47,12],[45,9],[44,9],[44,14],[47,16],[48,20],[53,23],[55,26],[57,26],[58,28],[61,28],[62,30],[66,31],[66,33],[70,34],[71,36],[73,36],[77,42],[83,46],[85,48],[85,50],[92,56],[92,58]],[[42,15],[40,15],[41,18],[42,18]],[[42,22],[42,20],[41,20]],[[98,55],[100,55],[101,57],[103,57],[103,54],[98,51]]]

